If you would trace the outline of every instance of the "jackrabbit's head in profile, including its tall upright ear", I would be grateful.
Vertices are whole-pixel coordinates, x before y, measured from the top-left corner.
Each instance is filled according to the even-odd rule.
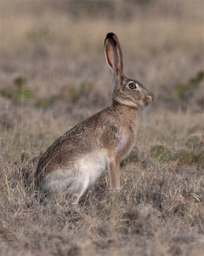
[[[105,38],[105,56],[113,72],[113,102],[138,108],[148,106],[154,96],[135,79],[128,79],[123,75],[122,49],[114,33],[108,33]]]

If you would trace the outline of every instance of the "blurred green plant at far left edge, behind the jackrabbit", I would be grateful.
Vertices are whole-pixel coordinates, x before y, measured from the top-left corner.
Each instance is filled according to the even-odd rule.
[[[33,91],[26,87],[26,79],[18,77],[14,79],[14,87],[3,88],[0,90],[0,94],[4,97],[11,99],[14,103],[20,103],[24,100],[34,98]]]

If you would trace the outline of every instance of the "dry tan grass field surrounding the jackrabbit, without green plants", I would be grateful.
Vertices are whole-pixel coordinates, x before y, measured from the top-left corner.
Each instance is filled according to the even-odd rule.
[[[0,90],[16,91],[20,77],[34,94],[17,102],[0,95],[1,255],[202,255],[203,166],[158,162],[150,148],[175,153],[203,134],[203,82],[186,99],[173,98],[204,66],[203,3],[1,0],[0,7]],[[103,40],[111,31],[127,75],[156,95],[149,120],[139,115],[122,189],[112,194],[104,175],[77,207],[60,195],[44,199],[33,189],[40,153],[110,104]]]

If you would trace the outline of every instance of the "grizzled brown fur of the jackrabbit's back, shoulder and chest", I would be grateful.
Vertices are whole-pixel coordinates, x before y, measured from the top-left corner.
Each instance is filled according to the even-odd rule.
[[[121,161],[135,141],[136,115],[136,108],[115,103],[67,131],[42,155],[37,166],[37,182],[48,172],[67,166],[83,154],[98,148],[107,148],[112,159]],[[125,125],[122,126],[122,123]],[[124,148],[117,149],[124,133],[128,135],[127,143]]]

